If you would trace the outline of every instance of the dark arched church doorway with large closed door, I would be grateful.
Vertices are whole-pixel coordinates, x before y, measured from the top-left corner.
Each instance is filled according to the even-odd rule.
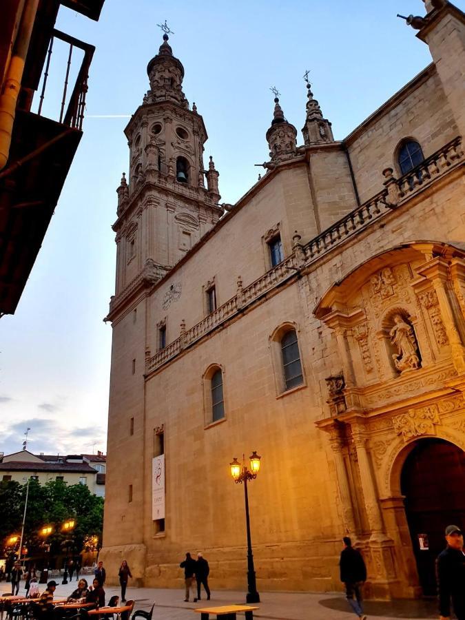
[[[406,457],[400,479],[405,512],[426,596],[436,594],[435,559],[444,528],[465,527],[465,453],[440,439],[420,440]]]

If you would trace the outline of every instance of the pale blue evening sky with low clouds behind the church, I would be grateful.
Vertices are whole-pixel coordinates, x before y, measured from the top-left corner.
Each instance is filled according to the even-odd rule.
[[[456,2],[462,10],[465,0]],[[431,62],[397,12],[421,0],[106,0],[98,22],[61,8],[56,28],[96,46],[84,135],[14,316],[0,320],[0,452],[92,453],[106,448],[114,293],[116,187],[127,172],[123,129],[148,89],[146,67],[167,20],[183,90],[203,115],[235,203],[268,158],[276,86],[288,121],[304,124],[313,94],[342,139]],[[65,53],[54,50],[43,114],[55,118]],[[72,65],[74,67],[74,65]],[[37,99],[37,97],[36,97]],[[37,101],[36,101],[37,105]],[[105,117],[105,118],[102,118]]]

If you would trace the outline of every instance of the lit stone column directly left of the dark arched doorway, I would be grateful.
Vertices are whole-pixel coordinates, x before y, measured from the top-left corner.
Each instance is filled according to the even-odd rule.
[[[384,534],[384,524],[378,502],[375,481],[373,480],[371,462],[366,451],[367,437],[363,428],[352,424],[352,435],[355,449],[357,451],[358,467],[360,469],[360,480],[366,509],[366,517],[371,530],[370,540],[382,541],[386,539]]]

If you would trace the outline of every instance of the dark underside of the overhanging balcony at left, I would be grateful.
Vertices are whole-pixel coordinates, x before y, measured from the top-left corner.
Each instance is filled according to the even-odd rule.
[[[14,313],[41,248],[82,132],[18,110],[7,169],[62,134],[58,141],[0,177],[0,313]]]

